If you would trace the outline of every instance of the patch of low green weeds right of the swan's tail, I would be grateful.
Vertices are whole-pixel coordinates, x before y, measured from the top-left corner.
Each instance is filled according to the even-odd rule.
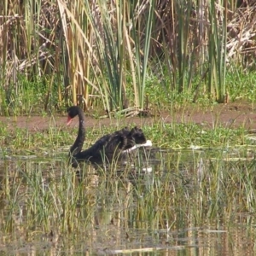
[[[153,137],[154,145],[161,148],[182,149],[191,146],[216,148],[247,144],[247,131],[244,127],[227,129],[218,126],[210,129],[195,123],[171,123],[148,126],[144,129],[148,137]]]

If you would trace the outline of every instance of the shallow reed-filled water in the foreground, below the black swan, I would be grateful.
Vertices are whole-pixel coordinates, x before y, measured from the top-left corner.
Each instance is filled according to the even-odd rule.
[[[3,158],[0,253],[252,255],[254,166],[247,148],[154,148],[79,181],[61,150]]]

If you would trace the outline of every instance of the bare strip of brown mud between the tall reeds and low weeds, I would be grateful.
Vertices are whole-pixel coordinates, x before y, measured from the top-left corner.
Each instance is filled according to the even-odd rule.
[[[172,115],[167,112],[154,115],[152,117],[130,117],[119,119],[119,126],[125,125],[151,125],[156,122],[194,122],[197,124],[206,124],[209,128],[213,125],[224,125],[227,127],[245,126],[247,129],[256,129],[256,111],[253,111],[253,105],[247,102],[235,102],[231,104],[218,104],[212,108],[184,108],[183,110],[172,111]],[[0,117],[0,121],[7,123],[9,129],[14,127],[27,128],[29,131],[44,131],[49,127],[64,127],[67,117],[64,115],[55,115],[55,117],[42,116],[19,116],[19,117]],[[78,119],[73,121],[73,126],[79,124]],[[116,125],[117,119],[94,119],[86,118],[86,126],[99,127],[102,125]]]

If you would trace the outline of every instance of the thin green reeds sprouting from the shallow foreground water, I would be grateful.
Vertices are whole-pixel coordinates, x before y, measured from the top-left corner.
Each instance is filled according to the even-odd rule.
[[[172,244],[175,230],[216,229],[220,220],[233,225],[236,214],[254,211],[255,165],[250,160],[240,155],[234,161],[232,154],[221,150],[162,154],[165,162],[143,175],[133,166],[122,174],[84,166],[82,182],[62,160],[28,164],[20,160],[16,176],[4,177],[12,182],[1,183],[6,195],[2,214],[6,210],[12,214],[3,214],[0,229],[16,236],[68,234],[74,244],[69,241],[67,247],[78,247],[84,232],[96,232],[94,240],[103,239],[97,245],[102,248],[109,246],[109,237],[118,239],[117,247],[124,236],[144,244],[146,234],[152,234],[155,244],[163,241],[157,234],[166,234],[164,241]],[[94,251],[94,241],[83,243]]]

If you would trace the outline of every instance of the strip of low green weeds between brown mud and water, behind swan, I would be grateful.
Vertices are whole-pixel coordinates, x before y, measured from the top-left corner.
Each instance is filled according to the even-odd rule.
[[[175,116],[174,116],[175,118]],[[27,122],[30,122],[28,117]],[[194,122],[166,124],[163,119],[157,119],[154,125],[143,126],[143,131],[150,138],[155,147],[188,149],[192,146],[200,148],[219,148],[227,147],[236,148],[239,145],[245,145],[247,139],[247,130],[241,125],[240,128],[234,128],[232,122],[221,125],[218,120],[214,124],[198,125]],[[4,152],[6,148],[11,150],[12,154],[37,154],[42,156],[46,151],[47,154],[58,152],[58,148],[67,147],[73,143],[77,135],[76,129],[67,129],[66,127],[57,128],[52,122],[53,127],[44,131],[28,131],[28,129],[12,128],[4,124],[0,127],[1,149]],[[210,125],[210,129],[209,129]],[[111,133],[123,128],[123,122],[117,121],[116,126],[102,126],[86,129],[86,139],[84,148],[88,148],[96,142],[96,139],[103,134]],[[238,143],[239,142],[239,143]]]

